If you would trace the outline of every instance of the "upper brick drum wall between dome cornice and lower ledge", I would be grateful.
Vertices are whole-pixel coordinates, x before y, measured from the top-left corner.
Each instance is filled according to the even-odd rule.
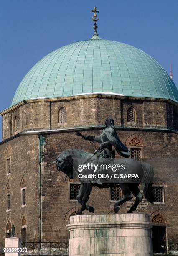
[[[135,109],[136,121],[127,122],[127,110],[132,106]],[[61,107],[66,108],[67,123],[59,124],[58,112]],[[113,111],[114,110],[114,111]],[[142,100],[120,98],[117,96],[91,95],[82,98],[66,97],[60,101],[46,101],[26,103],[19,108],[3,115],[3,139],[9,138],[18,132],[39,128],[71,128],[103,124],[106,117],[112,116],[115,125],[123,127],[178,127],[178,106],[166,103],[165,100]],[[15,131],[15,117],[17,131]]]

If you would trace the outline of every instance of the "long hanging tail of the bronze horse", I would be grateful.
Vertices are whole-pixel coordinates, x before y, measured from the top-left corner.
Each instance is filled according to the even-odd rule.
[[[145,195],[145,199],[150,202],[154,203],[154,195],[153,195],[153,177],[154,177],[154,170],[153,166],[150,164],[141,162],[142,168],[144,170],[144,177],[143,177],[143,182],[144,182],[144,187],[143,187],[143,193]]]

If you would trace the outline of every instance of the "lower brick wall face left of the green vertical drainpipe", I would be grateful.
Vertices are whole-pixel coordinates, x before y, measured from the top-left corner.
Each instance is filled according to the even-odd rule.
[[[7,156],[11,157],[10,175],[6,175]],[[39,237],[39,191],[38,191],[38,136],[23,136],[0,145],[0,242],[6,236],[6,224],[15,226],[15,236],[21,236],[21,220],[27,220],[27,239],[38,241]],[[21,205],[20,183],[26,183],[26,207]],[[11,193],[11,210],[6,211],[6,186]]]

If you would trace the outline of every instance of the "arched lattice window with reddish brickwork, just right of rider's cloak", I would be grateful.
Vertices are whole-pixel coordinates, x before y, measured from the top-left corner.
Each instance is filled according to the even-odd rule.
[[[138,138],[133,138],[130,143],[130,157],[132,159],[140,160],[142,157],[141,150],[142,150],[142,142]]]

